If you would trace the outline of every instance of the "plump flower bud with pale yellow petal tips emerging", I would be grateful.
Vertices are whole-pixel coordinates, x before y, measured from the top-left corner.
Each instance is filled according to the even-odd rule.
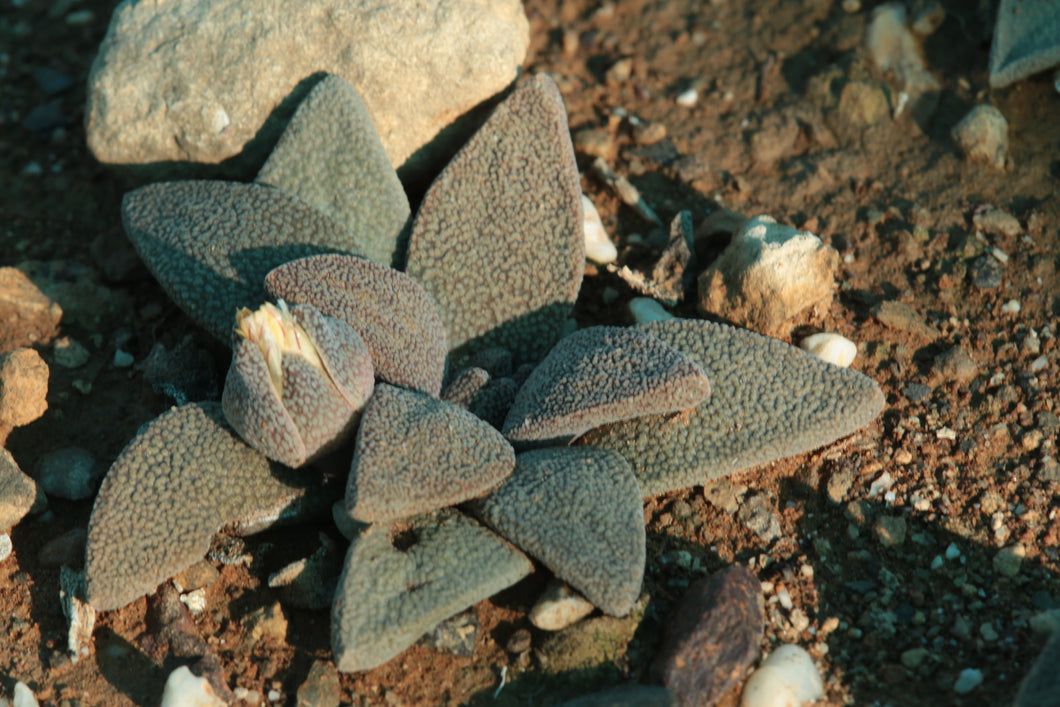
[[[283,300],[236,313],[222,407],[269,459],[301,466],[338,446],[374,386],[368,347],[346,322]]]

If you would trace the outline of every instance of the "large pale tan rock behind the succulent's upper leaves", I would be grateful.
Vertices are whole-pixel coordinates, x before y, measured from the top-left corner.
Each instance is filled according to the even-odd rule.
[[[528,45],[517,0],[125,0],[89,74],[88,144],[121,165],[240,156],[226,166],[249,175],[333,73],[396,167],[514,81]]]

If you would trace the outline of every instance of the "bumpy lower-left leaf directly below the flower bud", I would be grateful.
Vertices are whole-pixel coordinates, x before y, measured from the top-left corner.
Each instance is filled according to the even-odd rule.
[[[200,560],[222,527],[252,533],[324,512],[324,496],[237,439],[218,404],[173,408],[140,429],[103,480],[88,524],[88,601],[124,606]]]

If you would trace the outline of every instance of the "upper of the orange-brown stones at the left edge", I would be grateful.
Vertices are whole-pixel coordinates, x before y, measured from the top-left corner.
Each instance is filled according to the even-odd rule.
[[[48,343],[61,318],[63,308],[24,272],[0,267],[0,353]]]

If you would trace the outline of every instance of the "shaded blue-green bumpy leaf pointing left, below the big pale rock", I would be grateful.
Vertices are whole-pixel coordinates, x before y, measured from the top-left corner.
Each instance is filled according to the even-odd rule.
[[[363,252],[337,222],[262,184],[149,184],[125,195],[122,224],[173,301],[226,343],[235,311],[265,300],[269,270],[325,251]]]

